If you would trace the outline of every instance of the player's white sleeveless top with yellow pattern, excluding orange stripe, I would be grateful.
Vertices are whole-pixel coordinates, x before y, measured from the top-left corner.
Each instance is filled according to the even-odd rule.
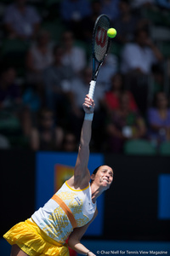
[[[65,202],[77,222],[77,227],[82,227],[94,217],[96,202],[91,198],[90,184],[85,189],[71,189],[67,182],[55,195]],[[73,228],[69,218],[59,204],[50,199],[44,207],[40,207],[31,216],[38,227],[55,241],[64,244]]]

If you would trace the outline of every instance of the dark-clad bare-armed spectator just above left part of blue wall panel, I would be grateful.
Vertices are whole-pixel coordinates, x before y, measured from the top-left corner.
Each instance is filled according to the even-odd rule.
[[[40,111],[39,124],[31,129],[30,145],[33,150],[59,150],[63,140],[62,129],[54,124],[54,113]]]

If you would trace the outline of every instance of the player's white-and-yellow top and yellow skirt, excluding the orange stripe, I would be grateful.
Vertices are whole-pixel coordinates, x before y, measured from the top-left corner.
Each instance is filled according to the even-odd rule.
[[[77,227],[88,224],[94,217],[96,203],[91,199],[90,184],[85,189],[75,190],[65,182],[56,195],[70,209]],[[30,219],[14,225],[3,237],[30,256],[67,256],[69,251],[65,241],[72,230],[70,218],[53,197]]]

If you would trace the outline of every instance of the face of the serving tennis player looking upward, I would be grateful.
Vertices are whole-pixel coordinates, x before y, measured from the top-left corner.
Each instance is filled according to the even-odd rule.
[[[109,189],[113,181],[113,170],[110,166],[100,166],[98,172],[95,174],[94,181],[100,186]]]

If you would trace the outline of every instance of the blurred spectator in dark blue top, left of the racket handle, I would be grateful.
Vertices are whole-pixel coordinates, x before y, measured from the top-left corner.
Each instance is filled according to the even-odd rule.
[[[54,63],[44,70],[45,105],[54,112],[60,121],[66,121],[68,95],[71,90],[71,79],[75,73],[70,65],[62,63],[63,48],[54,47]],[[64,125],[64,124],[63,124]]]

